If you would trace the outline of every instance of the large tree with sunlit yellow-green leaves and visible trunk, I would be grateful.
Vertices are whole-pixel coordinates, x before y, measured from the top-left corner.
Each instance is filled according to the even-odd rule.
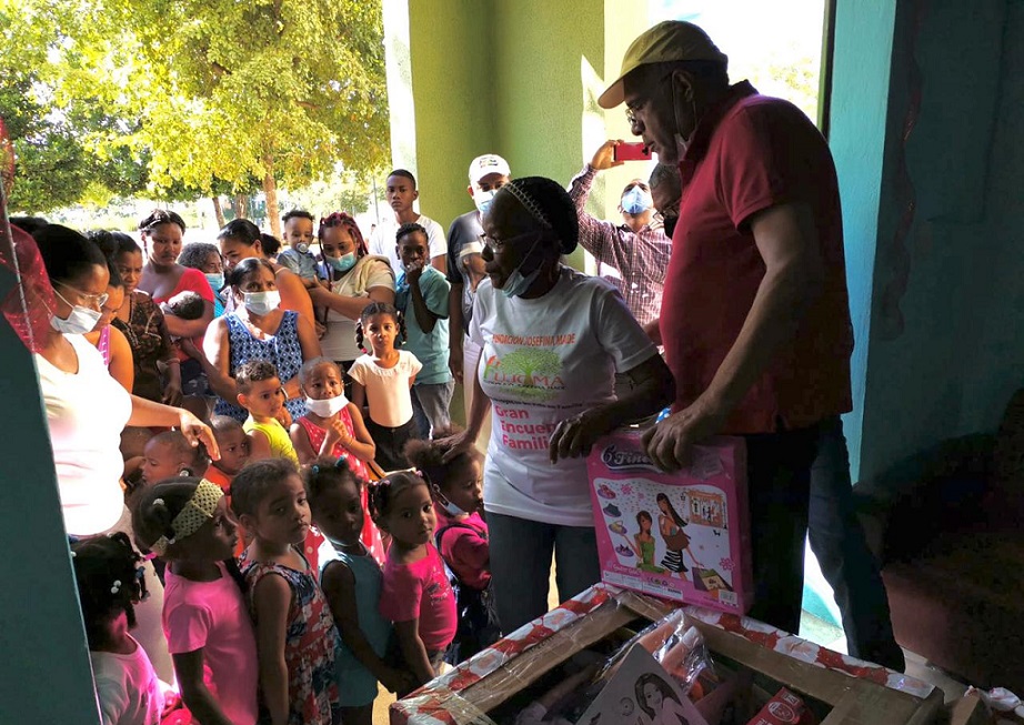
[[[66,89],[140,120],[110,145],[145,149],[154,188],[243,192],[255,177],[280,235],[279,185],[383,165],[380,0],[84,1]]]

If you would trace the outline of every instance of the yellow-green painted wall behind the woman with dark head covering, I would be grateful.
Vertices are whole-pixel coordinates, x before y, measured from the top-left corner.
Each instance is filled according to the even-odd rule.
[[[603,90],[605,13],[628,14],[626,4],[408,4],[422,213],[446,229],[470,211],[466,171],[482,153],[503,155],[513,175],[569,183],[608,133],[593,99]],[[603,211],[603,195],[595,197]],[[582,269],[582,253],[571,261]]]

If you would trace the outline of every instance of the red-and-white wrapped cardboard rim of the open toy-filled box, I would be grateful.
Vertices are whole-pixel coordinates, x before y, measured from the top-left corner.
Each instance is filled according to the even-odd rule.
[[[655,598],[595,585],[516,630],[391,705],[392,725],[493,725],[488,716],[571,656],[636,620],[672,610]],[[713,658],[747,667],[831,707],[822,725],[927,725],[942,691],[921,681],[831,652],[763,623],[703,607],[686,614]]]

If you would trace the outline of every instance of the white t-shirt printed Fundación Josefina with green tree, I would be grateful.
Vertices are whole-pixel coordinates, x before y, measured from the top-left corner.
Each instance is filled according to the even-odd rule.
[[[586,461],[552,465],[559,422],[614,400],[615,373],[657,354],[618,290],[562,268],[542,298],[476,288],[470,338],[483,345],[478,370],[491,399],[484,466],[486,511],[564,526],[593,526]]]

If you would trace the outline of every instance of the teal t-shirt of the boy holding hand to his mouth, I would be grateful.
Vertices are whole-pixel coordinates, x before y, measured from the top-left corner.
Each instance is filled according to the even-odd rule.
[[[420,276],[420,290],[426,309],[438,315],[438,321],[429,333],[420,328],[413,310],[412,291],[402,272],[394,285],[394,306],[402,311],[409,332],[409,340],[402,349],[411,352],[423,364],[416,374],[416,385],[446,383],[452,380],[452,372],[448,369],[448,293],[451,284],[441,272],[428,266]]]

